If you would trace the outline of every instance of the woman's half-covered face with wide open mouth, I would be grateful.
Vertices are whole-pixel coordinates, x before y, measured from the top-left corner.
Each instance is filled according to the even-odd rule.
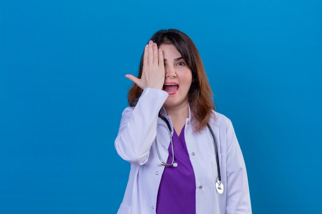
[[[192,72],[174,45],[164,44],[159,48],[163,52],[166,71],[162,90],[169,94],[164,106],[165,108],[174,109],[186,105],[192,82]]]

